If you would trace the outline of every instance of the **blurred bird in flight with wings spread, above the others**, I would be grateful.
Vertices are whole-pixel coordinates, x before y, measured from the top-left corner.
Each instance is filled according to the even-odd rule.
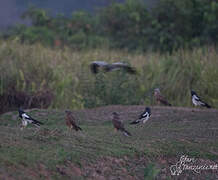
[[[90,64],[90,68],[91,68],[92,73],[94,74],[97,74],[100,68],[105,72],[123,69],[130,74],[136,74],[135,68],[129,66],[126,63],[122,63],[122,62],[116,62],[116,63],[109,64],[104,61],[94,61]]]

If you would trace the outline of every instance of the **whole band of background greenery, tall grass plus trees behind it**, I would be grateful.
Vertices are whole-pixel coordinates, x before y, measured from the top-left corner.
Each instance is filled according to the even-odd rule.
[[[176,106],[191,105],[190,89],[218,105],[216,1],[162,0],[148,10],[127,0],[71,17],[31,7],[23,18],[32,26],[18,25],[1,36],[1,112],[153,104],[157,87]],[[95,76],[93,60],[125,61],[139,73]]]

